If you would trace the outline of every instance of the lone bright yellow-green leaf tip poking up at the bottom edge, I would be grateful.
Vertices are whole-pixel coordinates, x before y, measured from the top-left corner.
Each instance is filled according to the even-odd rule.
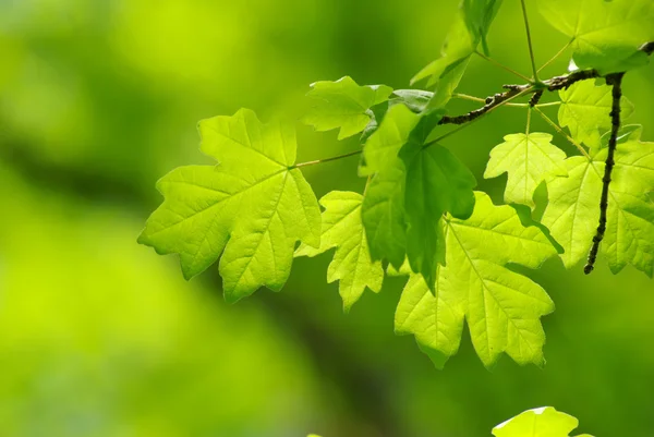
[[[579,421],[552,406],[528,410],[493,428],[495,437],[569,437]],[[578,437],[592,437],[588,434]]]

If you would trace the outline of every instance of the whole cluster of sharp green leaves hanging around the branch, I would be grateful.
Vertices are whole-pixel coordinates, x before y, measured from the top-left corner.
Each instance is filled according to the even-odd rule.
[[[501,0],[462,1],[443,56],[413,78],[426,78],[432,90],[360,86],[348,76],[312,85],[315,105],[303,121],[316,131],[339,129],[339,139],[360,134],[362,148],[346,156],[361,154],[363,194],[335,191],[318,203],[301,168],[320,161],[295,162],[293,126],[263,124],[241,109],[199,123],[202,150],[217,165],[182,167],[162,178],[157,186],[165,202],[140,242],[179,254],[186,278],[219,259],[230,302],[261,287],[280,290],[293,256],[336,248],[327,280],[339,281],[346,309],[366,288],[378,292],[385,274],[409,276],[396,330],[414,335],[438,367],[457,352],[464,320],[484,365],[502,353],[542,365],[540,318],[554,304],[537,283],[507,266],[535,269],[559,256],[570,268],[588,254],[608,186],[603,174],[614,97],[603,78],[570,82],[554,102],[558,124],[536,100],[521,104],[557,131],[567,128],[580,155],[567,157],[550,133],[530,132],[528,121],[524,133],[506,135],[491,150],[484,173],[508,173],[508,205],[475,192],[474,175],[441,145],[457,131],[446,126],[446,105],[470,58],[488,56],[486,35],[500,5]],[[592,69],[589,77],[649,59],[639,48],[654,40],[651,0],[541,0],[540,11],[570,36],[572,68]],[[530,83],[496,107],[542,94],[548,82],[535,76],[534,69]],[[482,114],[495,109],[486,105]],[[622,118],[633,110],[626,99],[621,108]],[[639,126],[619,132],[602,253],[614,272],[631,264],[652,277],[654,143],[640,136]],[[543,183],[548,201],[537,214],[534,193]],[[509,428],[496,435],[509,436]]]

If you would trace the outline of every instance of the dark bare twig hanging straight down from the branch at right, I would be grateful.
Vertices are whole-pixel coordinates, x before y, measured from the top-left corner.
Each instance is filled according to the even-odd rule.
[[[620,99],[622,98],[622,77],[625,73],[616,73],[606,76],[607,85],[613,86],[613,105],[610,109],[610,138],[608,139],[608,156],[606,157],[606,166],[604,167],[604,178],[602,178],[602,197],[600,199],[600,226],[597,233],[593,236],[593,245],[589,252],[589,260],[583,268],[584,274],[590,274],[595,268],[595,259],[597,259],[597,251],[600,243],[604,239],[606,232],[606,215],[608,210],[608,185],[610,184],[610,173],[615,166],[614,155],[618,142],[618,131],[620,130]]]

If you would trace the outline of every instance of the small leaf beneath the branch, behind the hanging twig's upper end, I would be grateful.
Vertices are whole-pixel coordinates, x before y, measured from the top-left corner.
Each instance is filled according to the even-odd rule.
[[[601,135],[610,129],[613,97],[611,87],[595,85],[593,81],[577,82],[568,89],[559,92],[561,105],[558,111],[559,124],[570,130],[572,138],[591,148],[600,146]],[[622,97],[620,102],[622,120],[633,113],[633,105]]]

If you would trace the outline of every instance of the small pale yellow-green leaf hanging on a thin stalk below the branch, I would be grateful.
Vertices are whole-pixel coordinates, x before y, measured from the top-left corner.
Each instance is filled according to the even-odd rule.
[[[507,172],[505,203],[535,208],[534,192],[548,175],[565,177],[566,154],[552,144],[552,135],[533,132],[510,134],[505,142],[491,150],[491,160],[484,178],[497,178]]]

